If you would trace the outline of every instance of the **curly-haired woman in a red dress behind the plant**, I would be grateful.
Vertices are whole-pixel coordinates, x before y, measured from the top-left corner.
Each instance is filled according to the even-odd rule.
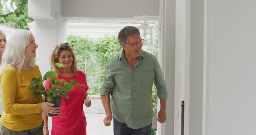
[[[86,107],[91,106],[91,101],[86,99],[87,90],[89,89],[84,72],[77,70],[76,60],[73,49],[68,43],[56,45],[50,57],[53,71],[58,72],[56,62],[62,63],[64,67],[59,69],[58,78],[64,79],[68,83],[75,80],[84,86],[74,86],[73,90],[68,92],[69,99],[62,98],[60,114],[52,118],[51,135],[86,135],[86,117],[83,111],[83,104]],[[46,88],[51,87],[51,78],[46,80]],[[61,84],[62,85],[62,84]],[[45,121],[43,131],[44,135],[49,135],[48,117],[43,114]]]

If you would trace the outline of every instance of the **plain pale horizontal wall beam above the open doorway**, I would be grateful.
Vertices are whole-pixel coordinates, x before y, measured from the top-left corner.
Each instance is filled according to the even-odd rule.
[[[134,18],[158,13],[159,0],[62,0],[64,17]]]

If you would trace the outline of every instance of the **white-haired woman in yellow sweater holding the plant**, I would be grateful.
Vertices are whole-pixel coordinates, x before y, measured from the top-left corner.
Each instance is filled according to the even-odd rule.
[[[43,96],[31,97],[36,88],[28,88],[32,78],[42,77],[36,65],[33,34],[17,30],[8,40],[0,66],[3,116],[1,135],[43,135],[42,112],[58,114],[59,107],[44,102]]]

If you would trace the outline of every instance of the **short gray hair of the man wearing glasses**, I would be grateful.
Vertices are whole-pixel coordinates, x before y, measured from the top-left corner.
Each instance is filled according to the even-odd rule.
[[[118,33],[118,42],[122,46],[123,43],[128,43],[128,37],[130,35],[141,35],[138,28],[134,26],[126,26],[125,28],[121,29]]]

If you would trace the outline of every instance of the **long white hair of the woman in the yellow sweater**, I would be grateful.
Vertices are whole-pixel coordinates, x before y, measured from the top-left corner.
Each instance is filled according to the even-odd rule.
[[[25,48],[30,42],[30,34],[32,34],[32,32],[29,30],[19,29],[11,35],[3,51],[0,72],[2,72],[6,66],[17,67],[20,72],[25,61]],[[30,59],[29,66],[36,66],[36,58]]]

